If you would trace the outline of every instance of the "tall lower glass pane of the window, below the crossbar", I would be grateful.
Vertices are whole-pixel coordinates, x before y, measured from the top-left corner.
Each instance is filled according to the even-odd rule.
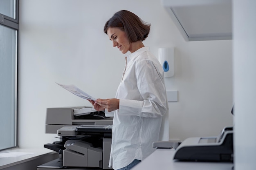
[[[17,31],[0,25],[0,150],[16,146],[16,42]]]

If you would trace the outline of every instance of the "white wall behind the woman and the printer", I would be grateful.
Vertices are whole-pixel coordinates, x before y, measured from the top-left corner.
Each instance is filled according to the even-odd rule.
[[[121,9],[152,24],[144,42],[175,47],[175,76],[167,90],[178,91],[169,103],[170,138],[217,136],[233,125],[232,41],[185,42],[160,0],[20,1],[19,145],[43,147],[49,107],[90,106],[55,82],[76,84],[96,98],[115,97],[124,56],[103,33],[105,22]]]

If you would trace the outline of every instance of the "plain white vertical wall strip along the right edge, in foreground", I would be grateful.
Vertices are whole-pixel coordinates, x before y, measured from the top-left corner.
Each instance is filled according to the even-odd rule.
[[[235,170],[255,170],[256,1],[233,1]]]

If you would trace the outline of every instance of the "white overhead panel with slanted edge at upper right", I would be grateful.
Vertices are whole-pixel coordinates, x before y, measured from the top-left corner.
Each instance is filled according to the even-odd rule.
[[[162,5],[187,41],[232,39],[231,0],[162,0]]]

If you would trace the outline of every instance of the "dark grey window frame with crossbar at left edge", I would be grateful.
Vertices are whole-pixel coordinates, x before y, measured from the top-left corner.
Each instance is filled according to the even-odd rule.
[[[19,56],[19,50],[18,50],[18,44],[19,44],[19,0],[14,1],[16,5],[15,8],[15,19],[11,18],[9,16],[3,15],[0,13],[0,25],[6,26],[10,29],[14,29],[16,31],[16,55],[15,55],[15,141],[14,145],[11,148],[17,148],[18,147],[18,56]],[[6,150],[10,148],[3,148],[2,150]]]

